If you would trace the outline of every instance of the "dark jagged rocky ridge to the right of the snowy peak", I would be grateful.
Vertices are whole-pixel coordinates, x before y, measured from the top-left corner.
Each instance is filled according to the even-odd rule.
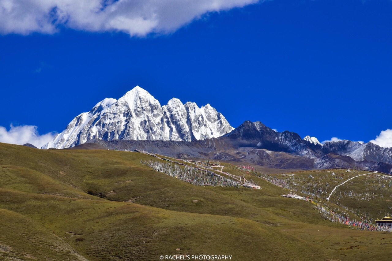
[[[260,121],[245,121],[238,128],[205,140],[145,141],[91,140],[108,149],[145,150],[177,158],[208,158],[249,162],[274,169],[359,168],[392,172],[392,148],[373,143],[334,141],[324,145],[314,137],[276,132]]]

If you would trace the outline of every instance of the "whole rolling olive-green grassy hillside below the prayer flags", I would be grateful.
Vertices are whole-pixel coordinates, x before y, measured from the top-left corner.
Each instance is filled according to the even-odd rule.
[[[263,179],[252,177],[260,190],[197,187],[149,169],[145,159],[0,143],[0,259],[382,260],[392,252],[389,233],[325,221]]]

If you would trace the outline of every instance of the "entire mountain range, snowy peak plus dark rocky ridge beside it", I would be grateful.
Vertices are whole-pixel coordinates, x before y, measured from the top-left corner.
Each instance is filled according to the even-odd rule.
[[[97,143],[107,149],[145,150],[177,158],[249,162],[274,169],[359,168],[392,173],[392,148],[373,143],[333,141],[276,132],[260,121],[233,129],[209,104],[182,104],[173,98],[161,106],[135,87],[119,100],[105,99],[74,118],[42,147],[57,149]]]

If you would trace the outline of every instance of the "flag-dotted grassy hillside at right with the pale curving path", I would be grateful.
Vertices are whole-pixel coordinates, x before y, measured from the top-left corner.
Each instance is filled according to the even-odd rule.
[[[323,193],[316,198],[324,202],[336,186],[353,178],[336,188],[329,202],[347,208],[350,210],[348,214],[352,216],[355,214],[368,219],[381,219],[388,213],[392,214],[392,176],[380,173],[366,175],[368,173],[372,172],[335,169],[299,171],[276,176],[298,189],[299,194],[301,191],[314,193],[321,189]],[[358,177],[354,178],[355,176]]]

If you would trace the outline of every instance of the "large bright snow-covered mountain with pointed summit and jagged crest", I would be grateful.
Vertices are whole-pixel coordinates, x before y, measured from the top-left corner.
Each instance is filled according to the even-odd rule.
[[[217,138],[233,130],[225,117],[207,104],[182,104],[173,98],[161,106],[149,92],[136,86],[120,99],[106,98],[89,112],[76,116],[63,132],[45,144],[63,149],[87,140],[192,141]]]

